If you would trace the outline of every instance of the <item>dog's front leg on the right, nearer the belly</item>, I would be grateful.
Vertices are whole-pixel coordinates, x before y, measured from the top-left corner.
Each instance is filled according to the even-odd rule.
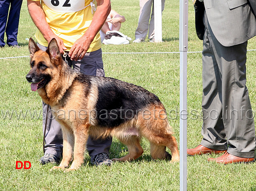
[[[84,163],[84,152],[88,138],[89,126],[90,124],[81,125],[74,130],[74,160],[70,168],[65,170],[66,172],[76,170],[82,165],[82,163]]]

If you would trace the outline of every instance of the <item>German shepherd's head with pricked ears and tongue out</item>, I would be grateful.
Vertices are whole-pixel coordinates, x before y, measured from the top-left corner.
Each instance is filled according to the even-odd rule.
[[[46,51],[40,50],[35,41],[30,38],[28,43],[30,51],[30,71],[26,79],[31,84],[31,90],[36,91],[45,87],[52,79],[52,70],[60,63],[61,55],[56,39],[52,39]]]

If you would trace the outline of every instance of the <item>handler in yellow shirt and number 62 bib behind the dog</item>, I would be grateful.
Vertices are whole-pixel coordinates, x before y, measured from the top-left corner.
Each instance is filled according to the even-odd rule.
[[[60,53],[68,53],[66,61],[74,70],[85,75],[104,77],[99,31],[111,10],[110,0],[27,0],[28,12],[38,28],[38,47],[46,50],[55,38]],[[96,5],[97,4],[97,9]],[[59,162],[62,158],[63,138],[60,124],[43,103],[44,156],[39,161]],[[50,108],[49,108],[50,109]],[[46,116],[48,120],[46,120]],[[47,123],[46,123],[47,121]],[[111,165],[109,149],[112,138],[87,140],[87,151],[94,165]]]

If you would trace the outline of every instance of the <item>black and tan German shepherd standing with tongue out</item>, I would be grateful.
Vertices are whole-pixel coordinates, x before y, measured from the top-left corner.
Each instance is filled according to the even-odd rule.
[[[63,159],[52,169],[78,169],[84,162],[88,135],[96,139],[115,136],[125,144],[128,154],[114,161],[140,157],[142,137],[150,142],[152,158],[179,161],[166,110],[156,95],[131,83],[74,71],[62,59],[56,39],[50,41],[46,51],[40,50],[32,38],[28,47],[31,70],[26,79],[51,106],[63,133]],[[72,153],[74,160],[68,169]]]

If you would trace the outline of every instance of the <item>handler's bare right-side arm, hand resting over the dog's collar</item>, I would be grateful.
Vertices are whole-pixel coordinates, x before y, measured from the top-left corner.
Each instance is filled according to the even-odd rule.
[[[110,0],[96,0],[96,2],[97,10],[92,18],[92,23],[90,24],[84,35],[76,40],[76,42],[70,49],[68,56],[71,57],[71,60],[77,61],[78,59],[82,59],[84,57],[94,37],[100,31],[108,17],[108,14],[110,13]]]

